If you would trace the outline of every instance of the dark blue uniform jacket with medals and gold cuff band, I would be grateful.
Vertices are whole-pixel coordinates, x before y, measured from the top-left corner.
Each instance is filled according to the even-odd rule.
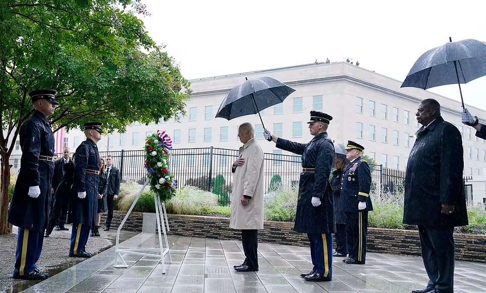
[[[362,211],[372,211],[373,205],[369,196],[371,171],[368,163],[361,160],[361,157],[356,158],[344,169],[342,180],[343,189],[339,208],[345,212],[358,212],[358,203],[365,202],[366,209]]]

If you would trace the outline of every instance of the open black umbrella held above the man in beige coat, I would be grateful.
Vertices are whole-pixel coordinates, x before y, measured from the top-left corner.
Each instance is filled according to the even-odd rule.
[[[247,81],[233,87],[223,99],[216,118],[231,120],[258,113],[262,126],[265,128],[260,111],[282,103],[289,94],[296,90],[271,77],[245,79]]]

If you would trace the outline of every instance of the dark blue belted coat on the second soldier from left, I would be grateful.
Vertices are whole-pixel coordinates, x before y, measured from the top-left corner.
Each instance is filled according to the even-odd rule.
[[[98,214],[98,175],[86,172],[86,169],[100,169],[100,154],[98,146],[91,139],[86,139],[74,153],[74,184],[72,201],[69,206],[69,223],[91,226],[96,222]],[[78,198],[78,192],[86,191],[84,199]]]

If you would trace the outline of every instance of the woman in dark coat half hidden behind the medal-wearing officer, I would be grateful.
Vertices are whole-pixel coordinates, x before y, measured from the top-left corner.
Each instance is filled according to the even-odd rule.
[[[336,223],[336,252],[332,255],[334,257],[346,257],[348,255],[348,235],[346,233],[346,217],[344,212],[340,209],[341,203],[341,178],[343,171],[349,163],[346,159],[346,151],[343,144],[336,144],[336,156],[334,159],[335,170],[332,172],[331,187],[334,196],[334,221]]]

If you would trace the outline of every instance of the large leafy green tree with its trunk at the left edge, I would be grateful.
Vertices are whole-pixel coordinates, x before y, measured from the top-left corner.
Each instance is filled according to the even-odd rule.
[[[9,158],[33,113],[28,92],[58,91],[53,129],[102,120],[124,131],[184,113],[189,82],[135,13],[140,0],[0,2],[0,234],[7,223]]]

